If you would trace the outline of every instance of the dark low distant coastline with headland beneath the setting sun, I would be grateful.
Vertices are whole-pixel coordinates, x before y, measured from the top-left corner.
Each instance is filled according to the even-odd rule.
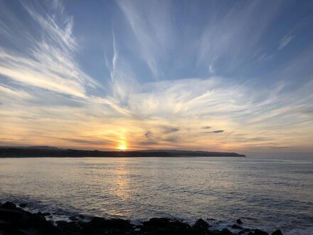
[[[236,152],[189,150],[99,151],[57,147],[0,147],[0,157],[246,157]]]

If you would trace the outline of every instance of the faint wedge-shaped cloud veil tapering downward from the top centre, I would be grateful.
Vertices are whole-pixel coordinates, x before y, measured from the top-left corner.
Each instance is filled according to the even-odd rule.
[[[117,1],[137,39],[139,53],[154,78],[159,78],[160,60],[173,43],[169,1]],[[141,11],[140,11],[141,10]]]

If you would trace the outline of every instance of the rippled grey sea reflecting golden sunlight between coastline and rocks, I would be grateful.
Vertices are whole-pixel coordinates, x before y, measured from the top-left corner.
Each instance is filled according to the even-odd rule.
[[[28,210],[120,216],[171,216],[217,228],[313,234],[313,158],[3,158],[0,202]]]

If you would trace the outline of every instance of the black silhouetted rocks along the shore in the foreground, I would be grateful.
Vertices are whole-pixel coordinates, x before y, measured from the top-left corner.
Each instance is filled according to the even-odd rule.
[[[83,216],[71,217],[68,221],[51,221],[46,217],[49,213],[31,213],[21,209],[26,204],[16,204],[6,202],[0,204],[0,234],[248,234],[267,235],[267,232],[260,229],[245,229],[242,221],[237,220],[232,229],[238,230],[233,233],[225,228],[221,231],[211,230],[207,221],[198,219],[193,226],[182,221],[167,218],[152,218],[135,226],[124,219],[105,219],[93,217],[90,221],[84,221]],[[55,225],[56,224],[56,225]],[[272,235],[281,235],[280,230],[276,230]]]

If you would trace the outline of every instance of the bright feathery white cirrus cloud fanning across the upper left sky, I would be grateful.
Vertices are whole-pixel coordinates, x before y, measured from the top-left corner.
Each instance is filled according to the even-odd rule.
[[[73,59],[78,45],[73,37],[73,19],[60,14],[59,26],[53,16],[43,11],[36,2],[21,3],[33,21],[38,23],[41,36],[31,36],[26,50],[0,48],[0,74],[21,83],[58,93],[84,98],[85,86],[98,83],[83,73]],[[60,7],[60,6],[58,6]],[[26,35],[29,34],[25,31]],[[15,32],[5,34],[16,38]],[[24,38],[19,38],[24,43]]]

